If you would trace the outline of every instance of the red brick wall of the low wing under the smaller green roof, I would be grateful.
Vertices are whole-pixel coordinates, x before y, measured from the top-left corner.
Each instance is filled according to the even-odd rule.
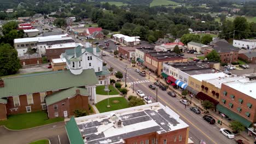
[[[57,110],[54,110],[54,105],[57,105]],[[87,96],[76,95],[71,99],[64,99],[55,104],[49,105],[48,116],[49,118],[55,118],[54,113],[58,112],[59,117],[64,117],[63,111],[67,111],[68,117],[70,117],[74,115],[73,111],[76,109],[89,110]]]

